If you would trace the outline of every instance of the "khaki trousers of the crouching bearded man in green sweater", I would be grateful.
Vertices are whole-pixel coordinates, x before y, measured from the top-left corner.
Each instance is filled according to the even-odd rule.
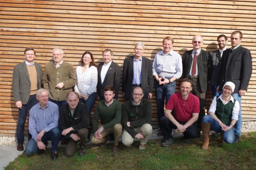
[[[95,136],[93,136],[91,142],[93,144],[104,143],[107,141],[107,137],[110,133],[114,133],[114,144],[118,146],[119,138],[122,134],[122,125],[120,123],[114,125],[113,127],[109,127],[106,130],[103,130],[102,133],[100,133],[102,135],[102,139],[96,139]]]

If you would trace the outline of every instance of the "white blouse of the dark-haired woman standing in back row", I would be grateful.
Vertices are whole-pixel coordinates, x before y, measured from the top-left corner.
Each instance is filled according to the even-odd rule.
[[[75,92],[80,92],[82,95],[87,94],[90,96],[93,92],[96,92],[98,82],[98,71],[95,66],[90,66],[84,73],[82,72],[82,66],[79,65],[76,68]]]

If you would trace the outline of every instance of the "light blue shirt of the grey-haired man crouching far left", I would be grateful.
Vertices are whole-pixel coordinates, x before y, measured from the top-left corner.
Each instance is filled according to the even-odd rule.
[[[29,133],[36,141],[36,136],[41,130],[48,132],[54,127],[58,127],[59,111],[58,105],[53,102],[47,102],[46,108],[41,108],[38,102],[29,111]]]

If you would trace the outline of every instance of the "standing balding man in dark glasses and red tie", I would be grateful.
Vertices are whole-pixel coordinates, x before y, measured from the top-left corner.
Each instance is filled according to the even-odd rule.
[[[201,49],[204,40],[201,36],[196,35],[192,39],[193,49],[183,54],[183,78],[192,80],[192,94],[199,98],[200,113],[198,116],[198,136],[201,131],[202,117],[205,115],[205,95],[207,92],[207,78],[209,53]]]

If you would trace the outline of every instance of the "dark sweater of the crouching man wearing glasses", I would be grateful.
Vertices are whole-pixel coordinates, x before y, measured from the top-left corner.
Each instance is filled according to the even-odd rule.
[[[134,105],[132,99],[122,105],[122,125],[134,137],[137,132],[133,129],[150,123],[152,119],[152,104],[148,99],[142,99],[140,105]],[[131,127],[126,125],[131,122]]]

